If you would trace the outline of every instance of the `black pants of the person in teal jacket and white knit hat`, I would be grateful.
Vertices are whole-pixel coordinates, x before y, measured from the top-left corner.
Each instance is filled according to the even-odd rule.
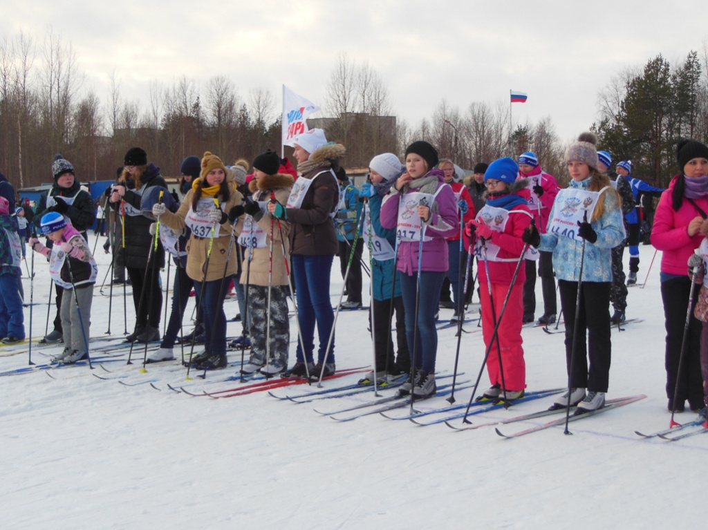
[[[394,359],[394,344],[391,338],[391,304],[396,312],[396,344],[398,345],[398,355]],[[372,301],[374,322],[371,322],[371,311],[369,322],[374,333],[374,345],[376,348],[376,371],[388,370],[394,372],[394,364],[400,371],[411,371],[411,354],[406,340],[406,311],[401,296],[394,299]],[[387,357],[388,356],[388,357]]]

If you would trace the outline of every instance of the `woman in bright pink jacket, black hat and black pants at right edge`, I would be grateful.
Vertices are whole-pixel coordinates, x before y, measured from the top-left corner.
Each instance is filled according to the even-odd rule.
[[[688,400],[691,410],[704,408],[700,367],[701,323],[690,310],[687,344],[681,373],[678,364],[685,327],[691,282],[686,276],[688,258],[700,246],[700,227],[708,217],[708,147],[695,140],[683,140],[676,151],[680,173],[661,194],[651,244],[661,256],[661,299],[666,319],[666,396],[668,410],[683,412]],[[700,285],[695,285],[694,303]],[[674,395],[676,401],[674,401]]]

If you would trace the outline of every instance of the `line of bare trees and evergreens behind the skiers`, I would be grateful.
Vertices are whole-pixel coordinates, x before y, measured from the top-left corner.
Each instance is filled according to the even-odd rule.
[[[598,94],[598,121],[578,131],[595,130],[615,161],[632,160],[636,176],[666,187],[678,171],[676,142],[708,140],[707,71],[706,50],[689,52],[680,64],[658,55],[642,69],[629,67]],[[82,180],[105,180],[131,146],[142,146],[169,176],[190,154],[212,151],[232,163],[280,145],[280,101],[266,88],[242,96],[227,76],[199,86],[183,75],[167,85],[149,83],[146,104],[122,95],[115,72],[103,101],[84,83],[71,42],[52,28],[41,41],[19,33],[0,42],[0,171],[16,188],[51,182],[56,153]],[[534,151],[546,171],[566,175],[567,145],[550,116],[510,125],[508,101],[475,101],[461,110],[443,98],[431,117],[409,125],[396,118],[377,71],[346,54],[329,74],[322,107],[319,115],[331,117],[316,115],[310,124],[347,147],[349,168],[365,167],[384,151],[402,157],[406,145],[425,139],[462,168]]]

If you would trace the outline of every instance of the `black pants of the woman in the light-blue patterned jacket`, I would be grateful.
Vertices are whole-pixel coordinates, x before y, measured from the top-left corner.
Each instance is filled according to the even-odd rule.
[[[558,285],[566,323],[566,368],[570,375],[570,386],[587,388],[588,391],[607,392],[612,358],[609,310],[612,284],[610,282],[581,284],[578,333],[574,337],[578,282],[558,280]],[[575,355],[573,355],[573,342]]]

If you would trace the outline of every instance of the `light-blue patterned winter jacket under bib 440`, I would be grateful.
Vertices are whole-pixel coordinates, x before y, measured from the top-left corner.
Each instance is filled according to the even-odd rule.
[[[587,190],[590,178],[576,182],[571,180],[569,188]],[[605,213],[592,226],[598,234],[595,243],[585,241],[585,258],[583,263],[583,282],[612,282],[612,248],[615,248],[624,239],[624,226],[622,224],[622,211],[619,209],[617,195],[611,189],[603,192],[605,197]],[[550,221],[554,219],[556,208],[564,204],[556,200],[553,203]],[[541,234],[539,250],[553,252],[553,268],[559,280],[577,282],[580,275],[582,241],[576,241],[558,234]]]

